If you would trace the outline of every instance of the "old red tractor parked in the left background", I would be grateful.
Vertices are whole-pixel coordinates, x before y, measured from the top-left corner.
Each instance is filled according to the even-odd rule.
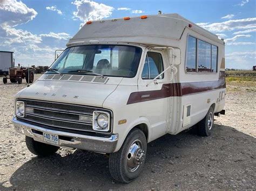
[[[33,83],[34,74],[32,68],[22,67],[18,64],[18,67],[9,68],[9,77],[7,75],[3,78],[3,83],[7,83],[7,79],[10,79],[11,83],[22,83],[22,79],[26,79],[26,83]]]

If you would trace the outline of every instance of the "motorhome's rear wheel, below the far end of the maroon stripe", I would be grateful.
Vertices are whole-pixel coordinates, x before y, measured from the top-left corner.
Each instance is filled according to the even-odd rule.
[[[211,107],[206,116],[198,123],[198,134],[200,136],[210,136],[211,131],[213,129],[213,123],[214,123],[214,111]]]

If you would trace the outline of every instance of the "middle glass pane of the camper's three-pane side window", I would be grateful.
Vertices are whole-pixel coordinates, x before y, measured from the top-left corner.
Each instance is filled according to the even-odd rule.
[[[211,72],[211,44],[198,40],[198,72]]]

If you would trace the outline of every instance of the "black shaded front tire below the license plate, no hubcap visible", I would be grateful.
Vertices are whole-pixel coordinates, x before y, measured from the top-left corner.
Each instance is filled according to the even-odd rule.
[[[33,138],[26,136],[26,147],[28,150],[39,157],[47,157],[58,151],[59,147],[37,142]]]

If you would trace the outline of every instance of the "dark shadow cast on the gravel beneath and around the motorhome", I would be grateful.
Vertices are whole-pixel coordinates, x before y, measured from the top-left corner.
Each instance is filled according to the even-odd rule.
[[[254,182],[252,172],[251,176],[250,171],[244,172],[252,168],[254,157],[255,138],[229,126],[215,125],[211,137],[183,132],[149,143],[142,175],[129,184],[111,179],[105,155],[75,150],[32,158],[11,175],[12,186],[0,185],[0,190],[225,189],[232,188],[230,177],[241,172],[241,179]]]

